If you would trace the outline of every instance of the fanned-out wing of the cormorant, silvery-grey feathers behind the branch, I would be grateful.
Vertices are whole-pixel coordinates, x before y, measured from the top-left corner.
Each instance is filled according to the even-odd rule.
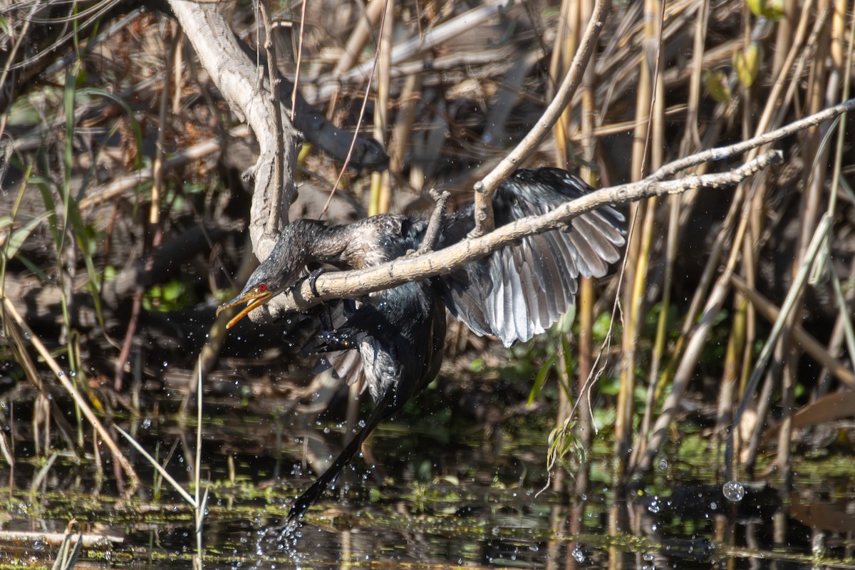
[[[592,188],[558,168],[518,170],[493,197],[496,225],[546,212]],[[474,227],[473,207],[446,220],[440,247],[456,244]],[[545,332],[575,303],[576,281],[602,277],[621,257],[624,217],[610,206],[570,221],[564,231],[523,238],[463,269],[437,278],[440,295],[473,332],[493,334],[505,346]]]

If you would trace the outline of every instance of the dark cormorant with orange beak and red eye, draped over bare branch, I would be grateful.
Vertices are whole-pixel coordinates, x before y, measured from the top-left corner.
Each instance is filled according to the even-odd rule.
[[[591,188],[557,168],[519,170],[493,197],[497,226],[545,214],[581,197]],[[473,206],[449,215],[438,248],[461,241],[475,227]],[[559,231],[522,238],[453,273],[378,291],[354,303],[339,302],[338,321],[313,347],[321,351],[358,350],[375,408],[333,465],[292,506],[289,520],[302,517],[357,454],[365,438],[422,391],[439,373],[445,340],[445,308],[479,335],[493,334],[506,346],[544,332],[575,301],[580,276],[602,277],[620,258],[623,216],[608,206],[571,220]],[[293,285],[304,268],[317,263],[340,268],[379,265],[417,250],[428,228],[380,214],[347,226],[296,220],[281,233],[243,291],[221,309],[247,303],[232,321]],[[342,313],[342,310],[339,310]]]

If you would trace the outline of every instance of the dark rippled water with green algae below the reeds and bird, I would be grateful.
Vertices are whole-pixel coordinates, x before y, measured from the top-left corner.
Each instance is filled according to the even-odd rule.
[[[446,417],[418,426],[406,419],[381,426],[371,440],[377,467],[355,461],[286,536],[293,497],[312,480],[304,457],[312,447],[333,454],[340,427],[313,426],[310,442],[305,426],[282,420],[234,410],[206,418],[205,566],[855,567],[851,458],[799,460],[791,496],[760,483],[730,502],[708,462],[676,458],[662,461],[649,485],[618,493],[608,442],[600,441],[584,493],[539,493],[546,478],[538,414],[507,422],[513,437]],[[189,486],[192,460],[182,442],[194,441],[194,428],[185,433],[162,418],[138,425],[140,441],[175,477],[186,473]],[[171,442],[178,442],[173,450]],[[278,458],[268,452],[277,442]],[[143,461],[143,489],[124,500],[92,477],[91,461],[15,452],[14,473],[0,471],[14,483],[2,490],[3,567],[51,563],[57,543],[49,533],[61,534],[72,517],[88,540],[78,567],[192,567],[192,508]]]

